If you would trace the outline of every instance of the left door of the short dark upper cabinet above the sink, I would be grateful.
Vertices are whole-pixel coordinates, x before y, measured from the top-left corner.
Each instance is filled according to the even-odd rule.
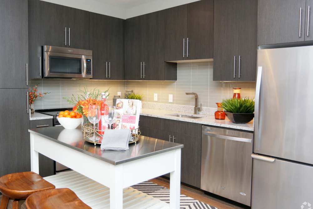
[[[187,4],[165,10],[165,61],[187,59]],[[185,42],[184,42],[185,40]]]

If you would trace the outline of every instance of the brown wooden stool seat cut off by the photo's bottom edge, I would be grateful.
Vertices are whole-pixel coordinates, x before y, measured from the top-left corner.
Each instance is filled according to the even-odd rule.
[[[36,192],[26,199],[27,209],[91,209],[68,188],[49,189]]]

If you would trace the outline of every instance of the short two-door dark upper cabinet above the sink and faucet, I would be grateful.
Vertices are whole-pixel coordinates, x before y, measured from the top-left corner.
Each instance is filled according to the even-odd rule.
[[[213,58],[213,0],[165,10],[165,60]]]

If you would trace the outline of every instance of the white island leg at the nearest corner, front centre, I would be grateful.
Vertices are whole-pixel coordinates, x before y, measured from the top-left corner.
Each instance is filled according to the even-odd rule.
[[[122,172],[122,165],[110,165],[110,209],[123,208]]]

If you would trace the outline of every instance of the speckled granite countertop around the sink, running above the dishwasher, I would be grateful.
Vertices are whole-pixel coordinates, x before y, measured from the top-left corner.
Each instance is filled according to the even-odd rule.
[[[177,113],[183,114],[183,115],[189,115],[189,116],[199,116],[203,118],[191,119],[191,118],[180,118],[180,117],[171,116]],[[146,109],[146,108],[143,108],[141,110],[140,115],[156,117],[156,118],[171,119],[171,120],[186,121],[186,122],[191,122],[191,123],[200,123],[204,125],[219,126],[223,128],[233,128],[233,129],[239,129],[239,130],[245,130],[245,131],[254,131],[254,123],[253,123],[254,120],[246,124],[237,124],[237,123],[231,122],[227,117],[225,120],[216,120],[213,115],[194,115],[194,114],[188,114],[184,112],[174,112],[174,111],[169,111],[169,110]]]

